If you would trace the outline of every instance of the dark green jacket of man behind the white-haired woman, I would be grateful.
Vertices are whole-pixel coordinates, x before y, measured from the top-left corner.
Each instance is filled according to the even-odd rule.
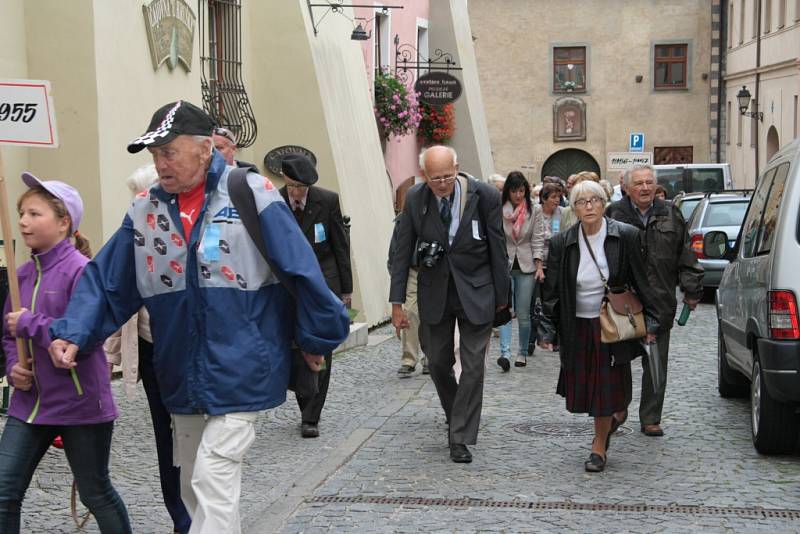
[[[606,216],[639,229],[647,279],[656,295],[658,322],[663,332],[672,328],[675,321],[676,286],[680,286],[686,298],[703,296],[703,267],[689,246],[686,222],[678,208],[655,200],[646,228],[635,209],[626,197],[608,206]]]

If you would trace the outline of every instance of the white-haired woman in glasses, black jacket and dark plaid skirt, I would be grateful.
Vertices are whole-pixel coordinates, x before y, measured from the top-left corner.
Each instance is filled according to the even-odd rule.
[[[630,361],[644,353],[641,341],[655,340],[659,325],[638,231],[603,216],[606,193],[595,182],[577,184],[570,204],[580,224],[550,242],[539,345],[552,350],[556,334],[561,340],[557,392],[566,397],[567,410],[594,417],[592,452],[584,466],[598,472],[605,469],[611,434],[627,417]],[[644,307],[645,339],[600,341],[598,317],[606,285],[636,292]]]

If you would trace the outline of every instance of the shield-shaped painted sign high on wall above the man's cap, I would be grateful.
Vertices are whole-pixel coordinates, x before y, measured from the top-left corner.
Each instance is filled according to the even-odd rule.
[[[169,70],[180,62],[186,72],[191,71],[196,17],[189,4],[184,0],[153,0],[142,6],[142,11],[153,70],[166,61]]]

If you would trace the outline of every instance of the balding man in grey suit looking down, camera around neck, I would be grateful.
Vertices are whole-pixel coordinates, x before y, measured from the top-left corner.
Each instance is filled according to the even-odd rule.
[[[508,306],[511,278],[493,187],[458,172],[456,152],[433,146],[420,154],[426,183],[406,195],[397,235],[389,300],[392,324],[408,328],[403,303],[412,253],[419,261],[420,337],[449,425],[450,458],[469,463],[483,404],[484,354],[495,313]],[[461,334],[461,377],[455,363],[455,324]]]

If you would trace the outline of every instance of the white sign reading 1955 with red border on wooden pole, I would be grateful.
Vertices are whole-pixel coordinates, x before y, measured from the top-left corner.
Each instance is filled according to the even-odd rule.
[[[58,146],[50,82],[0,80],[0,145]]]

